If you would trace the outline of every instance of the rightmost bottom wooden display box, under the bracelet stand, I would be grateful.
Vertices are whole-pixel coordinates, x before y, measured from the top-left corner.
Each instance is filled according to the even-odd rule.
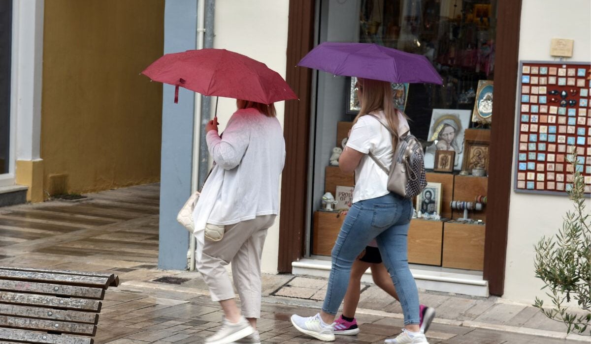
[[[444,222],[441,266],[482,270],[485,226]]]

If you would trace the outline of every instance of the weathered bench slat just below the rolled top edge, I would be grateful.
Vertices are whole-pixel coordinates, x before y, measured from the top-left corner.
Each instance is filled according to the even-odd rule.
[[[39,273],[33,271],[6,269],[0,269],[0,279],[69,284],[71,286],[98,287],[102,289],[107,289],[109,283],[111,283],[108,277],[80,276],[44,272]]]

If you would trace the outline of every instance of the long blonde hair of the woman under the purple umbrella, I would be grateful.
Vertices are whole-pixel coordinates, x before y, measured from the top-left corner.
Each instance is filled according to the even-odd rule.
[[[398,120],[398,109],[394,107],[392,101],[394,93],[392,93],[391,83],[365,78],[357,78],[357,81],[361,86],[361,92],[359,93],[361,109],[353,120],[353,124],[361,116],[383,110],[388,126],[394,132],[394,135],[392,135],[392,148],[395,148],[398,144],[398,122],[400,121]],[[408,119],[406,114],[402,113],[402,116]]]

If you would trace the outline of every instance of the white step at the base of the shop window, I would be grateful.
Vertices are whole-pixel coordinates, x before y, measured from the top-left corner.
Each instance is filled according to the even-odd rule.
[[[291,263],[291,267],[291,273],[294,275],[328,278],[330,273],[330,257],[304,258]],[[471,296],[489,296],[488,281],[482,279],[482,271],[417,264],[410,264],[410,271],[417,282],[417,287],[420,289]],[[372,283],[369,269],[361,280],[366,283]]]

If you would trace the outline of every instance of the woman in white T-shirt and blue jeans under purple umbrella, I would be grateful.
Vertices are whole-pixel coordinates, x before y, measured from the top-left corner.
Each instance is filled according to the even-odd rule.
[[[326,341],[335,340],[333,322],[345,296],[353,261],[374,238],[388,273],[400,297],[404,329],[386,343],[428,344],[420,330],[417,285],[408,267],[407,234],[413,215],[411,199],[388,191],[388,175],[372,160],[392,163],[398,135],[408,130],[407,117],[392,103],[388,81],[358,78],[356,85],[361,110],[339,158],[343,172],[355,171],[353,204],[332,250],[332,267],[322,311],[315,316],[291,316],[300,332]],[[374,116],[379,117],[379,120]],[[398,133],[394,137],[381,123]]]

